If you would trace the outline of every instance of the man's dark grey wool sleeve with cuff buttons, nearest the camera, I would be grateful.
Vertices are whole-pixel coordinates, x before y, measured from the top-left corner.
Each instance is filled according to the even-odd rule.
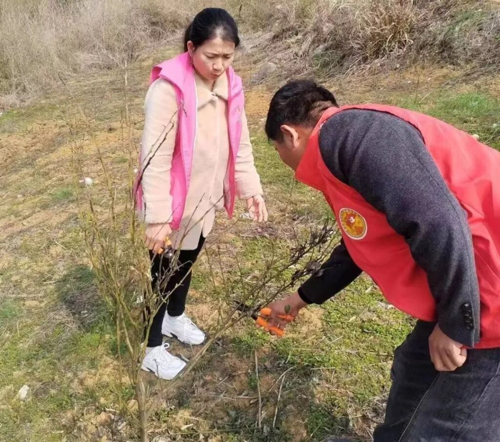
[[[471,233],[420,132],[396,116],[352,109],[323,124],[319,146],[331,173],[404,237],[427,274],[442,331],[473,346],[479,340],[479,288]]]

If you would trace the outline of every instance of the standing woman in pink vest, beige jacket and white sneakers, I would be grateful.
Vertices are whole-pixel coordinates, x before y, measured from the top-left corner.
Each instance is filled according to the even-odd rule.
[[[188,344],[205,339],[184,307],[191,266],[215,211],[225,208],[231,216],[236,194],[246,199],[253,219],[267,219],[241,79],[231,68],[238,44],[229,13],[206,8],[185,31],[184,53],[151,71],[137,201],[146,223],[152,287],[166,301],[152,320],[142,369],[162,379],[171,379],[185,365],[168,353],[162,335]],[[175,269],[161,253],[166,239],[178,250]]]

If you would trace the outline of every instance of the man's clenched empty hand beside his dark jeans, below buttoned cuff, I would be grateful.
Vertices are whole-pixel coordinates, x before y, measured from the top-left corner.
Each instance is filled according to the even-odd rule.
[[[437,371],[453,371],[467,359],[467,349],[442,332],[436,324],[429,336],[430,359]]]

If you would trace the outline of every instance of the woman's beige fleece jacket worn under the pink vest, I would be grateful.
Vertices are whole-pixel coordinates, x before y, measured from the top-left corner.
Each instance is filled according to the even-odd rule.
[[[198,97],[197,132],[194,145],[191,181],[182,221],[172,234],[175,248],[192,250],[200,234],[207,236],[215,211],[223,208],[224,180],[229,160],[227,129],[227,76],[219,77],[213,87],[195,75]],[[144,171],[142,188],[146,201],[146,223],[168,222],[172,214],[170,167],[177,131],[177,101],[173,86],[158,78],[145,99],[145,120],[141,141],[143,164],[155,151]],[[241,198],[262,194],[260,178],[253,162],[246,115],[242,113],[242,132],[235,163],[236,195]],[[164,138],[159,148],[160,140]],[[154,146],[154,147],[151,147]],[[157,148],[157,149],[156,149]]]

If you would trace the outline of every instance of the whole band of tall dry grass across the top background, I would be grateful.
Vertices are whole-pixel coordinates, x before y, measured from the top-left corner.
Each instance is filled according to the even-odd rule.
[[[272,61],[287,78],[415,55],[493,67],[500,57],[500,12],[487,0],[4,0],[0,107],[71,76],[123,66],[179,38],[206,6],[233,14],[252,66]]]

